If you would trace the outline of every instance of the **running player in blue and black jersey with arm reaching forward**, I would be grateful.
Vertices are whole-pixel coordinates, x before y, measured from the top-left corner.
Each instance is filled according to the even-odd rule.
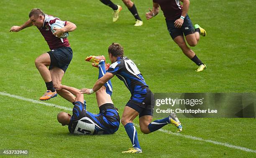
[[[81,89],[81,92],[86,94],[97,93],[97,91],[115,75],[118,79],[122,80],[125,86],[130,90],[131,98],[124,108],[121,122],[125,127],[133,147],[129,148],[127,151],[123,151],[123,153],[142,153],[136,128],[133,124],[133,120],[138,115],[141,132],[145,134],[154,132],[170,123],[175,125],[178,131],[181,132],[181,122],[173,113],[164,119],[151,122],[155,105],[154,94],[148,88],[141,72],[133,61],[124,57],[123,47],[118,43],[112,43],[108,48],[108,56],[112,64],[107,73],[97,80],[92,89],[84,88]],[[105,64],[104,56],[88,56],[85,60],[94,64]]]

